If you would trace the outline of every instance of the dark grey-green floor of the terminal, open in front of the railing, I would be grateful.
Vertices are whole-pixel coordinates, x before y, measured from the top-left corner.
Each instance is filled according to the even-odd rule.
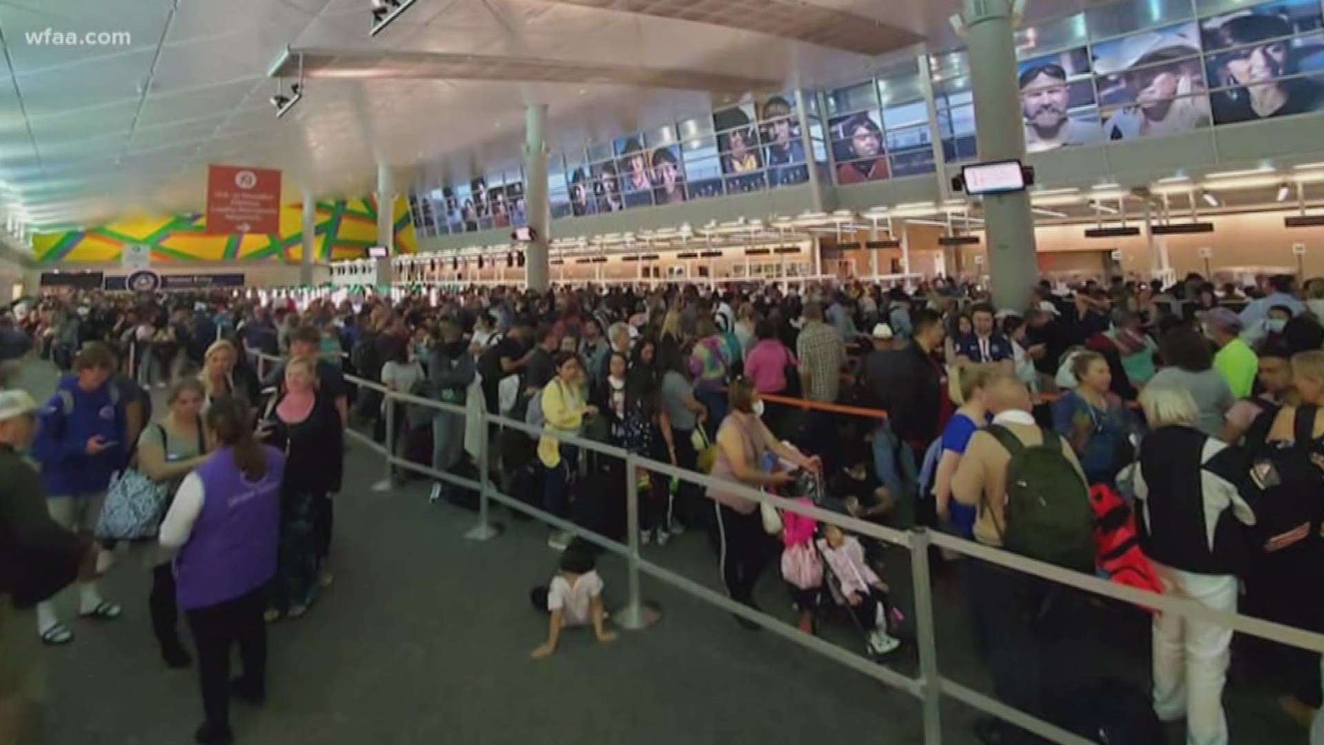
[[[48,394],[52,371],[32,366],[24,386]],[[335,585],[307,618],[271,627],[269,703],[236,704],[238,742],[263,745],[481,744],[804,744],[923,741],[919,705],[775,634],[749,632],[711,606],[645,578],[645,597],[662,620],[600,646],[568,632],[544,661],[530,651],[545,618],[528,589],[545,583],[556,554],[536,524],[499,514],[506,533],[490,542],[463,538],[474,516],[429,505],[414,483],[373,493],[380,460],[361,448],[347,460],[336,500]],[[649,558],[718,587],[707,541],[686,534]],[[894,551],[887,579],[907,615],[910,567]],[[600,570],[609,604],[622,599],[624,563]],[[773,571],[769,571],[773,574]],[[74,624],[78,639],[49,652],[46,707],[54,745],[176,745],[201,717],[192,671],[167,671],[147,619],[148,573],[126,557],[103,582],[124,604],[115,623]],[[943,673],[985,688],[970,648],[965,606],[952,575],[935,585]],[[65,598],[66,606],[70,598]],[[760,586],[765,610],[790,618],[780,581]],[[1099,610],[1082,631],[1080,664],[1100,665],[1144,684],[1144,618]],[[68,616],[68,614],[65,614]],[[1106,630],[1106,631],[1103,631]],[[830,624],[829,639],[859,651],[853,630]],[[915,673],[906,647],[888,664]],[[1272,705],[1270,688],[1234,667],[1229,684],[1233,742],[1304,744]],[[944,700],[944,742],[972,744],[974,712]],[[1172,732],[1181,742],[1181,732]]]

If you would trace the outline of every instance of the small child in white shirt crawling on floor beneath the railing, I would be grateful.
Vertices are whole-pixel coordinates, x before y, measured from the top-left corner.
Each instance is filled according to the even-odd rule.
[[[596,571],[593,550],[581,541],[575,541],[561,551],[560,569],[552,583],[534,587],[528,598],[534,607],[549,614],[547,620],[547,642],[534,650],[534,659],[552,656],[560,640],[561,628],[569,626],[593,626],[597,640],[609,644],[616,642],[616,632],[606,630],[606,614],[602,611],[602,578]]]

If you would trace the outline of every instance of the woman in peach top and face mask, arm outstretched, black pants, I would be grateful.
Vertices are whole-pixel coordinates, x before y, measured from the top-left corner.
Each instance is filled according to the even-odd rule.
[[[818,471],[822,461],[806,457],[804,453],[781,444],[768,427],[755,414],[757,408],[759,391],[748,379],[739,379],[731,383],[731,414],[722,420],[718,430],[718,453],[712,464],[712,477],[735,481],[744,487],[765,488],[780,487],[790,481],[786,472],[767,473],[761,468],[764,452],[771,451],[779,459],[793,463],[801,468]],[[759,517],[759,502],[726,492],[710,488],[714,509],[718,514],[719,561],[722,566],[722,579],[727,586],[731,599],[744,603],[753,610],[759,606],[753,602],[753,586],[763,574],[764,565],[776,555],[776,542],[763,530],[763,520]],[[757,624],[736,616],[736,622],[745,628],[757,628]]]

